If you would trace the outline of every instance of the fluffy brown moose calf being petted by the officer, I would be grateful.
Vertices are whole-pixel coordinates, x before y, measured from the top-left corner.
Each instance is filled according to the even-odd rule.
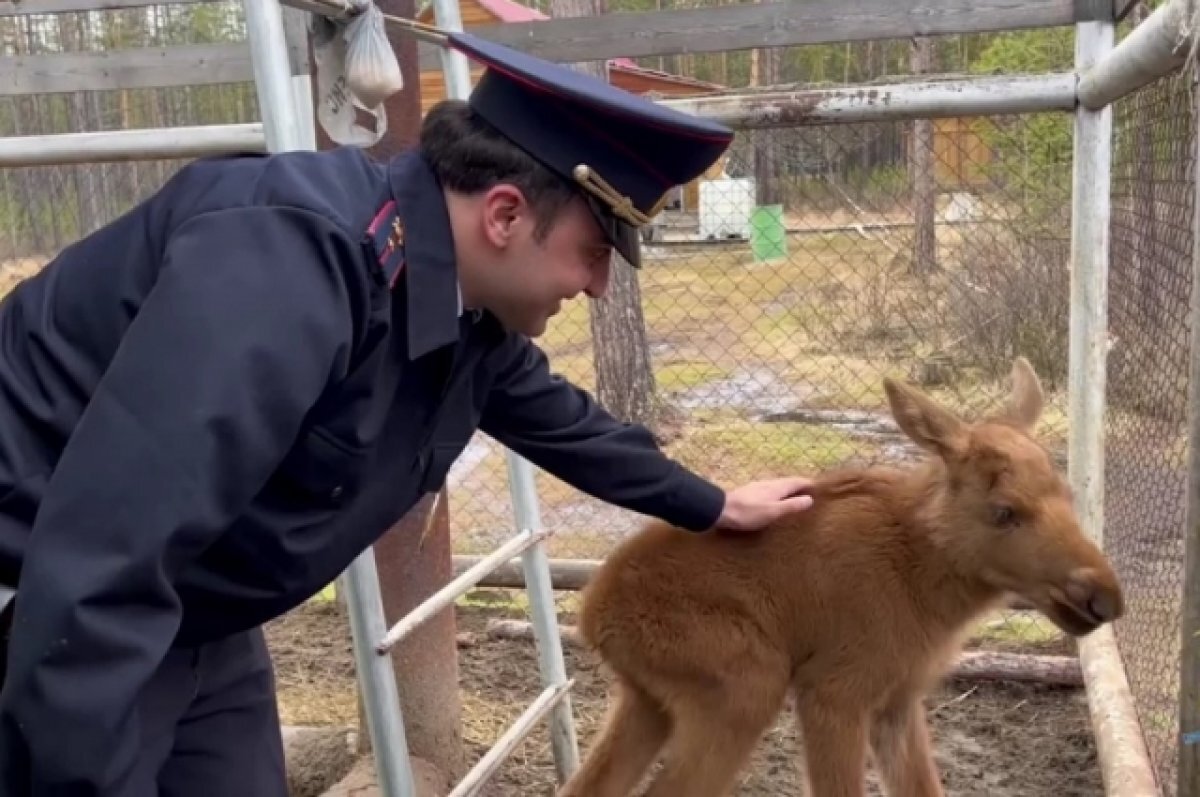
[[[1030,437],[1037,376],[1019,359],[1013,379],[976,425],[886,380],[926,462],[821,475],[811,509],[757,533],[655,522],[619,545],[580,616],[616,700],[559,797],[625,797],[662,753],[650,797],[728,795],[788,691],[814,797],[864,795],[868,751],[892,797],[941,797],[922,701],[971,622],[1009,593],[1073,635],[1123,612]]]

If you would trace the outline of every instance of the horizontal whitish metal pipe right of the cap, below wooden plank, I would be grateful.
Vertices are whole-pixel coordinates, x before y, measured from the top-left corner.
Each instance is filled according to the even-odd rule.
[[[662,100],[740,130],[1073,110],[1070,72]]]

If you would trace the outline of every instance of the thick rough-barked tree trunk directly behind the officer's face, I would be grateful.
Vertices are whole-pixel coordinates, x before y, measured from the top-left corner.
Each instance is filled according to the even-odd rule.
[[[589,17],[604,13],[602,0],[551,0],[550,16]],[[575,65],[606,80],[602,61]],[[635,271],[613,253],[608,293],[588,305],[596,373],[596,397],[620,420],[654,427],[659,403]]]

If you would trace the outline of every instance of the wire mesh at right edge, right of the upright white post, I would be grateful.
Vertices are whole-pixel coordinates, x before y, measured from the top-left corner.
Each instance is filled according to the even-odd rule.
[[[1116,627],[1164,795],[1176,793],[1195,234],[1194,74],[1114,108],[1105,549],[1128,595]]]

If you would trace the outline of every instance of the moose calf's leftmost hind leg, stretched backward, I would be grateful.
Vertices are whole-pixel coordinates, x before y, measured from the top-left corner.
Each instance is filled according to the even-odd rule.
[[[558,797],[626,797],[654,763],[671,724],[641,689],[618,677],[604,729]]]

